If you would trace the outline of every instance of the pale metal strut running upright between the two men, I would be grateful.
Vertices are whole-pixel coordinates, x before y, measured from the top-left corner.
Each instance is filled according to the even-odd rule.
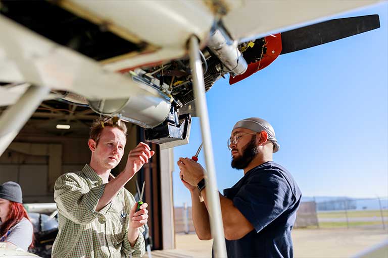
[[[189,57],[192,76],[192,88],[194,90],[196,111],[201,121],[201,132],[204,143],[204,156],[207,170],[206,196],[208,197],[210,228],[214,238],[214,256],[224,258],[226,254],[224,227],[220,207],[220,197],[217,189],[216,169],[214,165],[212,138],[210,134],[208,106],[205,97],[204,74],[200,58],[200,47],[196,36],[189,40]]]

